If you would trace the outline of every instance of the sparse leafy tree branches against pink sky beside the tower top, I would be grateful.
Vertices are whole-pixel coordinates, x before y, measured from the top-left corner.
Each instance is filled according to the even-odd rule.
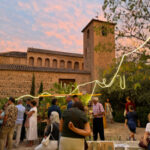
[[[117,50],[131,49],[122,46],[120,39],[140,42],[150,36],[150,0],[104,0],[103,10],[108,21],[117,23]],[[146,47],[150,48],[150,41]]]

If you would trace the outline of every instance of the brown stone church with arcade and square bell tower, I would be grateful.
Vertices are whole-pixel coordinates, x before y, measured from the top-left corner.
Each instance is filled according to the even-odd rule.
[[[115,24],[92,19],[82,30],[83,54],[28,48],[27,52],[0,53],[0,97],[29,94],[33,73],[36,90],[54,83],[77,84],[99,79],[115,58]],[[81,88],[90,92],[92,85]],[[37,93],[36,91],[36,93]]]

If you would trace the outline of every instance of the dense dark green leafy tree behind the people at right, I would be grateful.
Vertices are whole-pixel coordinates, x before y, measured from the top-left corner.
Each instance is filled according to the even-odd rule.
[[[150,107],[150,66],[145,63],[147,59],[149,58],[143,53],[140,55],[138,62],[128,61],[127,59],[124,61],[119,71],[119,75],[125,75],[126,77],[126,88],[124,90],[120,89],[120,83],[117,79],[111,87],[98,89],[102,93],[101,99],[110,98],[115,121],[124,121],[125,98],[130,96],[136,104],[141,125],[143,127],[146,125]],[[114,75],[116,66],[118,64],[114,64],[110,69],[104,71],[103,76],[108,81]]]

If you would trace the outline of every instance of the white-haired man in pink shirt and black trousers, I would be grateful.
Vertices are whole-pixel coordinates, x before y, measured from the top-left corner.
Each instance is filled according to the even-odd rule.
[[[93,136],[94,141],[97,140],[97,135],[101,140],[105,140],[104,138],[104,125],[103,125],[103,116],[105,114],[103,105],[98,102],[98,97],[93,97]]]

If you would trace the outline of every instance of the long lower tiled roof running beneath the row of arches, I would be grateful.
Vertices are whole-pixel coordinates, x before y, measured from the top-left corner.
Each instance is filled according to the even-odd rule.
[[[0,64],[0,70],[14,70],[14,71],[39,71],[39,72],[59,72],[59,73],[75,73],[75,74],[90,74],[89,71],[82,70],[70,70],[59,68],[46,68],[46,67],[32,67],[26,65],[14,65],[14,64]]]

